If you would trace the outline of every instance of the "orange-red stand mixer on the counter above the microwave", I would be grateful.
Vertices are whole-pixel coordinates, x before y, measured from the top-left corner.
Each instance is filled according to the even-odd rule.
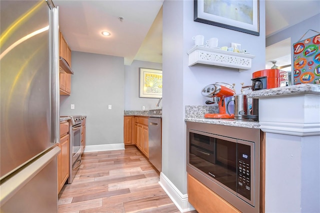
[[[205,101],[206,104],[217,103],[219,113],[206,113],[205,118],[233,118],[234,114],[226,113],[225,111],[225,97],[233,96],[235,92],[223,85],[213,83],[202,88],[201,94],[205,97],[212,97],[212,101]]]

